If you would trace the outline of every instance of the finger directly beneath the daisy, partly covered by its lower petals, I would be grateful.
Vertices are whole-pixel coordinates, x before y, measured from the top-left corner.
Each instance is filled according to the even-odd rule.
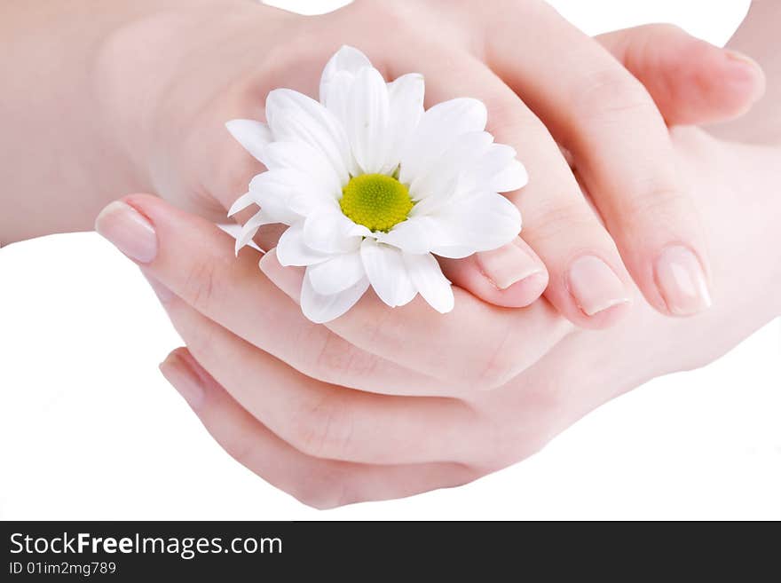
[[[282,267],[275,250],[260,268],[280,289],[300,301],[304,271]],[[389,309],[374,294],[327,323],[367,351],[472,390],[500,387],[546,354],[571,326],[548,303],[509,311],[454,288],[454,310],[440,314],[418,297]]]

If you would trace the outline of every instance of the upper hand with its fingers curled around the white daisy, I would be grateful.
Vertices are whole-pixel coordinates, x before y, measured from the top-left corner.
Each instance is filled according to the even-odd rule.
[[[660,311],[683,315],[704,308],[708,270],[698,222],[675,176],[667,128],[649,92],[546,4],[491,6],[493,11],[477,18],[473,4],[433,1],[359,2],[318,18],[244,3],[220,3],[218,14],[209,3],[188,9],[189,16],[164,12],[122,28],[106,44],[99,59],[107,79],[106,109],[119,106],[125,112],[122,149],[142,153],[142,168],[143,161],[153,161],[142,169],[145,183],[177,206],[218,220],[261,169],[227,136],[223,123],[261,118],[260,98],[274,87],[316,94],[319,69],[339,44],[351,43],[389,77],[422,72],[432,101],[481,98],[490,112],[488,129],[517,149],[533,177],[510,197],[524,212],[524,240],[444,261],[454,283],[503,306],[528,305],[545,289],[568,319],[603,327],[626,311],[626,263]],[[420,26],[432,20],[444,31],[436,40]],[[377,35],[378,29],[393,34]],[[643,52],[650,40],[663,49]],[[733,102],[745,106],[746,98],[761,91],[757,67],[669,28],[605,42],[635,74],[665,66],[667,59],[677,59],[677,51],[693,51],[700,60],[710,59],[708,72],[718,70],[734,81],[728,98]],[[161,55],[171,43],[178,48],[168,62]],[[123,80],[147,58],[162,61],[156,67],[171,72],[129,90]],[[689,91],[702,94],[694,82]],[[671,96],[663,81],[649,87],[661,106],[686,97]],[[690,121],[694,111],[690,106],[671,120]],[[580,195],[556,140],[572,154],[610,234]],[[679,288],[674,260],[698,281],[697,294]]]

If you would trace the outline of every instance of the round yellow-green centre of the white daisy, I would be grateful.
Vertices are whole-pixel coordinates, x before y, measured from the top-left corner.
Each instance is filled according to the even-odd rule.
[[[339,206],[353,223],[370,231],[390,231],[406,220],[413,207],[405,185],[384,174],[362,174],[342,189]]]

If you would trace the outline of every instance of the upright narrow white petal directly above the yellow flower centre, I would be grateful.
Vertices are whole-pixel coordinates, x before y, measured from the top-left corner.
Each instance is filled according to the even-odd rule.
[[[363,67],[355,75],[345,128],[355,161],[366,174],[383,169],[388,151],[388,88],[374,67]]]

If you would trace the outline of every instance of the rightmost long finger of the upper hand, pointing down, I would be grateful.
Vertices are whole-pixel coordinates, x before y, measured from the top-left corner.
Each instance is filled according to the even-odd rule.
[[[669,315],[705,310],[709,278],[697,209],[683,192],[667,126],[648,91],[547,6],[534,14],[546,36],[518,35],[528,15],[510,5],[487,40],[488,62],[572,152],[648,302]],[[583,268],[588,274],[596,264]]]

